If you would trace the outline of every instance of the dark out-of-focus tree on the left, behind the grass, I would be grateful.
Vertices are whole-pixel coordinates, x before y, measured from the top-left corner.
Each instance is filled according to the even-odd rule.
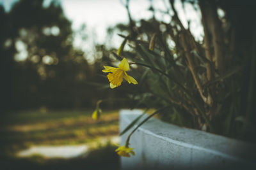
[[[71,22],[58,1],[44,7],[43,0],[21,0],[0,12],[0,43],[10,43],[1,48],[5,108],[89,106],[92,92],[84,83],[90,67],[72,44]]]

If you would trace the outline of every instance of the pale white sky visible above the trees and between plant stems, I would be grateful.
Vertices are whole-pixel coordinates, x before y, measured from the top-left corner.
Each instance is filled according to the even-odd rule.
[[[0,0],[6,11],[10,10],[12,3],[19,0]],[[88,38],[83,41],[78,35],[74,38],[74,46],[81,48],[92,59],[93,45],[104,43],[108,46],[118,47],[122,43],[122,38],[117,34],[113,38],[106,39],[107,29],[118,23],[128,23],[127,11],[122,2],[125,0],[58,0],[63,6],[67,18],[72,21],[72,29],[79,30],[81,25],[86,25],[86,34]],[[51,0],[44,0],[44,6],[51,3]],[[161,11],[167,11],[170,8],[168,0],[152,0],[156,11],[157,20],[170,22],[170,15],[163,14]],[[130,0],[131,15],[134,20],[147,19],[152,17],[152,12],[147,9],[150,7],[148,0]],[[189,4],[182,8],[180,0],[175,1],[175,7],[179,13],[180,20],[185,27],[188,27],[188,20],[191,20],[191,32],[196,39],[202,39],[203,29],[200,25],[200,14],[193,10]],[[170,13],[172,14],[172,13]],[[122,32],[120,32],[122,33]]]

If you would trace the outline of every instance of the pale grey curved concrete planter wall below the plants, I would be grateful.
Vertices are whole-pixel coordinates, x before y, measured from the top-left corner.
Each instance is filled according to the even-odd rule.
[[[121,110],[120,131],[141,113]],[[129,132],[122,136],[121,145]],[[136,155],[122,157],[122,169],[256,169],[256,145],[166,124],[156,118],[150,118],[134,132],[130,147],[135,148]]]

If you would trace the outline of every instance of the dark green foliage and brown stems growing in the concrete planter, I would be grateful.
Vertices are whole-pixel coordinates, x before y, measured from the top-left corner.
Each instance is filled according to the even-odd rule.
[[[150,20],[136,22],[126,1],[130,23],[117,27],[129,32],[120,34],[130,48],[122,57],[138,66],[133,69],[138,86],[129,91],[133,107],[168,106],[159,111],[166,122],[254,140],[250,132],[255,129],[256,27],[248,20],[255,16],[253,5],[249,1],[182,3],[191,4],[202,15],[203,41],[182,24],[173,0],[170,23],[157,21],[155,10]],[[218,10],[225,15],[218,15]]]

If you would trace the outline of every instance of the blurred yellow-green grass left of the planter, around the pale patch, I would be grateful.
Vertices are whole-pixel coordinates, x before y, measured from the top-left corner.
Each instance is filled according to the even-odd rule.
[[[93,110],[13,111],[0,115],[0,157],[4,169],[118,169],[116,146],[99,147],[102,138],[118,135],[118,111],[104,111],[99,121]],[[40,155],[15,157],[17,152],[35,145],[92,146],[85,158],[45,159]],[[86,167],[86,168],[85,168]]]

